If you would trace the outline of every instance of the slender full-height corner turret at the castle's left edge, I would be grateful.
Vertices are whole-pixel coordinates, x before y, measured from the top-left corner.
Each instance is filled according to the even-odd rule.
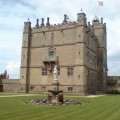
[[[21,56],[21,83],[26,85],[26,93],[30,89],[30,79],[29,79],[29,56],[30,56],[30,46],[31,46],[31,22],[24,22],[24,32],[23,32],[23,44],[22,44],[22,56]],[[24,70],[24,72],[23,72]]]

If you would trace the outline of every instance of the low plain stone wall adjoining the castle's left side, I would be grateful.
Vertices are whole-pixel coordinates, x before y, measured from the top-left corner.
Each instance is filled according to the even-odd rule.
[[[19,79],[2,79],[3,92],[18,92]]]

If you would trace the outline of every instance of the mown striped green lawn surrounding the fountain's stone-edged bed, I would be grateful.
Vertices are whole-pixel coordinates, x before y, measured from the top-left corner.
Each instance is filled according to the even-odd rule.
[[[76,99],[87,102],[82,106],[49,106],[22,102],[39,97],[45,96],[0,97],[0,120],[120,120],[120,95],[77,97]]]

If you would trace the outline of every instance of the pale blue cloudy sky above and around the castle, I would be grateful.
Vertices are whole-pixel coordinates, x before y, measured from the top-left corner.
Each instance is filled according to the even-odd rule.
[[[99,1],[103,6],[99,6]],[[120,76],[120,0],[0,0],[0,73],[7,70],[10,78],[20,77],[21,47],[24,22],[32,27],[36,19],[50,17],[50,24],[62,23],[64,14],[70,21],[77,13],[87,21],[97,16],[107,26],[108,75]]]

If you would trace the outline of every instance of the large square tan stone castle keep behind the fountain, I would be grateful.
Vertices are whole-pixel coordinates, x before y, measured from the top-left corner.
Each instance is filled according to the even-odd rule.
[[[44,18],[31,27],[24,23],[20,91],[48,91],[52,88],[53,68],[58,66],[60,89],[64,92],[93,94],[106,91],[106,24],[94,18],[87,23],[85,13],[69,22],[51,25]]]

